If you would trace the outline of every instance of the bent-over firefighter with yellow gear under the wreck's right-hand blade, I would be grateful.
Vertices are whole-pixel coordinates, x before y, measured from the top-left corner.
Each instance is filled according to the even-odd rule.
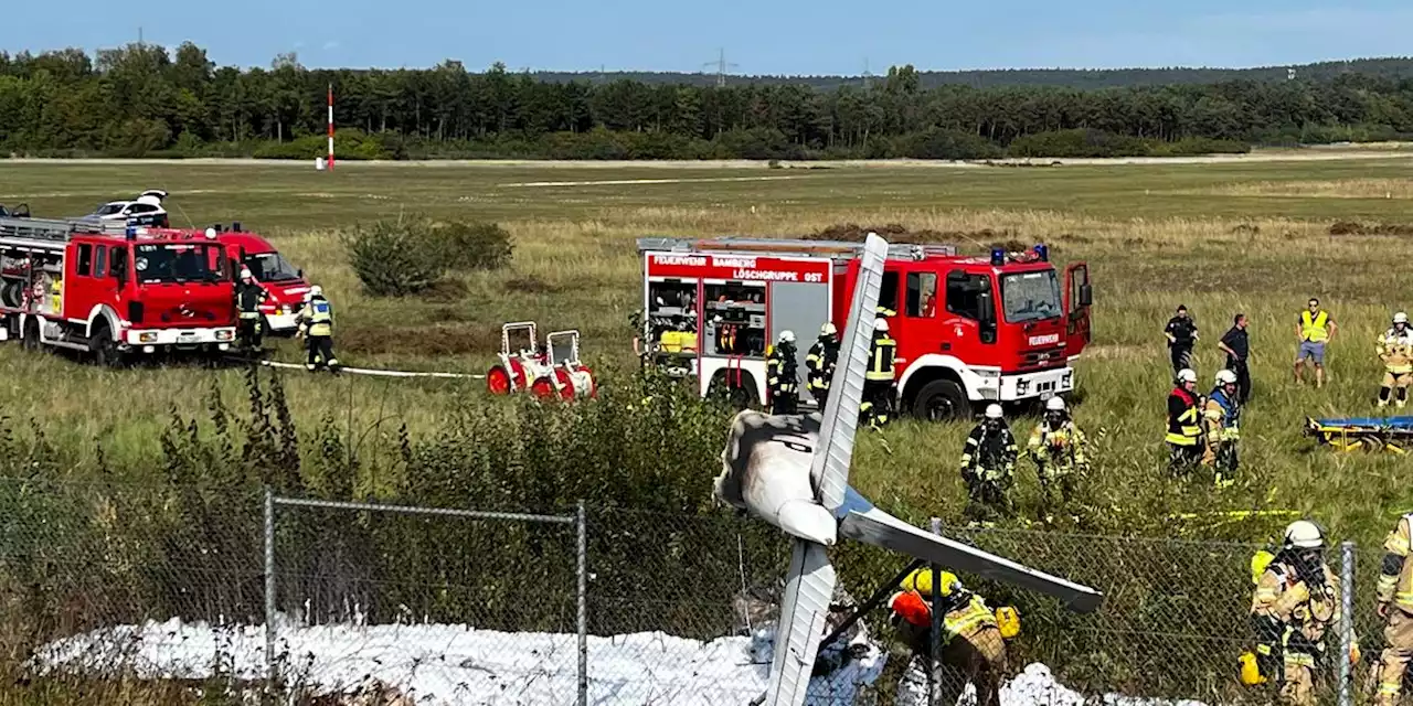
[[[934,703],[957,703],[966,683],[976,689],[976,706],[1000,705],[1000,679],[1006,674],[1006,637],[1019,621],[1002,626],[986,600],[966,590],[952,572],[938,576],[942,611],[940,664],[934,672],[938,695]],[[927,702],[928,668],[933,664],[933,570],[917,569],[903,579],[903,590],[889,597],[889,623],[897,630],[913,658],[897,685],[894,705],[923,706]]]

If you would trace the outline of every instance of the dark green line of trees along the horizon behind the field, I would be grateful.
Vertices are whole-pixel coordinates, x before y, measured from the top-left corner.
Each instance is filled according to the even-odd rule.
[[[538,80],[469,72],[216,66],[150,44],[0,54],[0,150],[27,155],[312,158],[335,92],[342,158],[992,158],[1243,151],[1413,134],[1413,79],[1075,89]]]

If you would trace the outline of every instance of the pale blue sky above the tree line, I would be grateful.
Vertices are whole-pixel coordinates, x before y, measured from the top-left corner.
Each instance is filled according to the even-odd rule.
[[[732,73],[920,69],[1259,66],[1413,55],[1409,0],[107,0],[13,3],[0,49],[93,51],[194,41],[218,64],[479,71],[701,71],[718,49]],[[394,14],[396,13],[396,14]],[[20,31],[18,28],[23,28]],[[715,69],[711,69],[715,71]]]

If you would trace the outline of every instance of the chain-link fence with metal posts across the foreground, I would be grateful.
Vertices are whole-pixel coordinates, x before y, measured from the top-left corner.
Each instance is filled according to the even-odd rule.
[[[909,559],[845,542],[831,551],[829,627],[868,610],[824,651],[811,703],[933,693],[950,706],[992,689],[1006,705],[1275,699],[1238,679],[1260,546],[942,531],[1095,586],[1104,606],[1081,616],[961,575],[988,610],[1015,607],[1020,633],[920,645],[886,609]],[[1365,698],[1381,558],[1352,545],[1327,556],[1348,616],[1318,669],[1330,700]],[[743,705],[766,686],[787,561],[777,530],[725,511],[482,513],[7,479],[0,666],[20,681],[219,678],[418,703]],[[1358,665],[1338,658],[1347,635]]]

